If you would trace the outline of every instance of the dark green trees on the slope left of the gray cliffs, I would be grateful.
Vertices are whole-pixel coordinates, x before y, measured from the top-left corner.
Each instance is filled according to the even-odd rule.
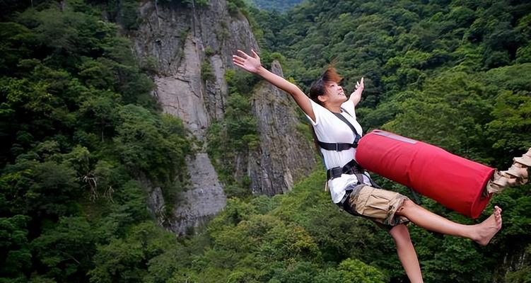
[[[157,112],[153,81],[100,1],[34,2],[11,3],[0,23],[0,281],[88,282],[105,270],[98,246],[151,221],[146,183],[175,203],[190,143]],[[107,16],[132,29],[138,4],[105,1]],[[140,229],[151,246],[170,241],[139,265],[146,282],[165,281],[156,273],[184,252],[173,234]]]

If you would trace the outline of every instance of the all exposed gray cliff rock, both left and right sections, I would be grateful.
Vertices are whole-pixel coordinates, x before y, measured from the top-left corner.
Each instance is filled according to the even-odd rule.
[[[247,19],[231,15],[226,0],[211,0],[197,7],[181,1],[143,1],[139,7],[141,24],[134,36],[134,51],[141,64],[155,69],[156,96],[163,111],[180,117],[198,141],[198,154],[190,156],[188,172],[192,188],[176,204],[175,233],[203,223],[226,204],[223,187],[211,161],[204,154],[204,132],[223,117],[228,88],[226,69],[233,69],[236,50],[258,50]],[[281,74],[280,67],[276,71]],[[289,98],[291,99],[291,98]],[[286,93],[263,84],[257,88],[253,108],[259,121],[262,148],[242,156],[238,170],[250,176],[252,192],[274,195],[291,189],[293,180],[308,173],[315,161],[308,143],[293,148],[300,137],[293,115],[293,101]],[[310,162],[308,162],[310,160]],[[304,162],[303,162],[304,161]],[[152,197],[161,197],[151,192]],[[150,200],[157,207],[163,200]]]

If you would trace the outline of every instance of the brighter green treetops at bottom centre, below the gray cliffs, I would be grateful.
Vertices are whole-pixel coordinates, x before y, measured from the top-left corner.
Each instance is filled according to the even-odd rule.
[[[340,213],[330,204],[328,193],[319,192],[321,181],[322,173],[316,173],[288,195],[262,196],[251,202],[228,200],[226,209],[206,229],[208,242],[202,243],[184,269],[174,272],[170,282],[211,282],[213,276],[221,282],[385,282],[383,272],[344,254],[354,256],[353,247],[361,246],[350,242],[350,248],[332,247],[341,245],[340,239],[349,242],[352,233],[366,228],[356,224],[367,222]],[[317,224],[308,218],[324,221]],[[343,226],[321,227],[326,221]],[[373,238],[370,232],[365,236]],[[323,247],[327,237],[335,241]],[[187,243],[189,248],[192,244]],[[361,253],[368,253],[370,259],[374,253],[369,250],[365,246]]]

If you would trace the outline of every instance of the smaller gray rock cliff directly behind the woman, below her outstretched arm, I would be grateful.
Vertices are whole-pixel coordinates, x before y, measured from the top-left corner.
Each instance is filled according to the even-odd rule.
[[[272,63],[272,72],[283,76],[279,62]],[[260,132],[259,150],[248,163],[252,192],[288,192],[294,180],[308,175],[317,164],[313,144],[301,133],[310,127],[298,120],[300,110],[293,98],[265,81],[255,90],[252,110]]]

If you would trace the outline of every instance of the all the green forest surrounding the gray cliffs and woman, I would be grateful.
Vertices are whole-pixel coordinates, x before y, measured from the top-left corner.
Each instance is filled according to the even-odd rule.
[[[228,2],[252,23],[262,62],[279,60],[303,90],[329,64],[346,90],[363,76],[364,132],[502,170],[531,146],[528,1],[312,0],[284,13]],[[387,232],[332,204],[322,166],[285,195],[229,193],[199,233],[157,224],[146,183],[178,205],[194,140],[161,112],[151,67],[132,54],[138,4],[0,0],[0,282],[407,282]],[[228,108],[246,112],[252,87],[229,85]],[[255,135],[252,125],[228,132]],[[462,224],[503,208],[486,247],[410,224],[425,282],[531,282],[531,185],[477,220],[420,201]]]

